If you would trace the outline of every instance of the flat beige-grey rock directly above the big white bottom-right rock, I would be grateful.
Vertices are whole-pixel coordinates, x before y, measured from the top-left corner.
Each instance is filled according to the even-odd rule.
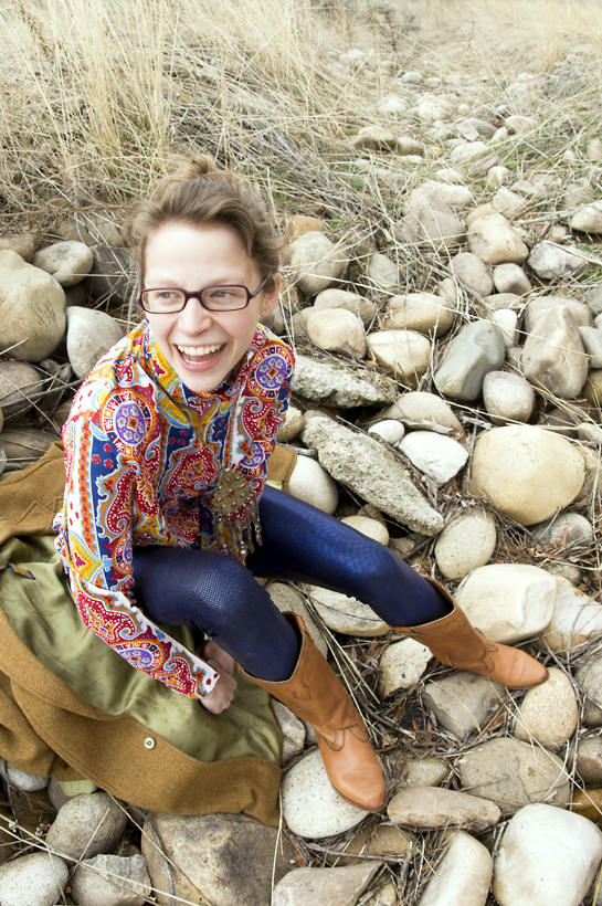
[[[493,799],[504,815],[532,802],[566,808],[571,799],[564,762],[538,746],[498,737],[463,752],[457,768],[462,786]]]

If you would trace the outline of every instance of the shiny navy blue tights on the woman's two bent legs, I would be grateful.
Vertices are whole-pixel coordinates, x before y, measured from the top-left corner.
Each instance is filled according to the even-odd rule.
[[[246,560],[207,550],[134,548],[135,594],[155,622],[202,630],[244,670],[288,680],[297,633],[254,580],[281,579],[340,591],[393,626],[437,620],[450,605],[388,548],[289,494],[266,485],[263,546]]]

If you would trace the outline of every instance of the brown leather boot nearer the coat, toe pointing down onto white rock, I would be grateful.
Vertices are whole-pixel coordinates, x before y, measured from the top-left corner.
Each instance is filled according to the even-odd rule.
[[[326,773],[341,799],[367,812],[379,812],[387,798],[384,778],[363,720],[326,657],[314,645],[302,618],[291,613],[286,617],[303,640],[291,680],[271,683],[250,676],[240,666],[239,670],[314,727]]]

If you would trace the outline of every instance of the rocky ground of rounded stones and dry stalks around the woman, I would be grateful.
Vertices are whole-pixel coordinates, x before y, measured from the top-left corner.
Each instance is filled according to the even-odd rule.
[[[54,780],[4,766],[3,906],[151,892],[212,906],[602,904],[595,48],[529,69],[508,51],[500,74],[473,32],[430,29],[408,19],[411,49],[390,35],[323,49],[324,78],[359,98],[328,140],[326,126],[282,123],[260,138],[246,110],[229,154],[211,129],[196,146],[264,164],[291,240],[270,318],[297,352],[288,492],[445,582],[549,680],[509,693],[443,667],[358,601],[273,583],[353,691],[387,812],[334,794],[310,728],[282,705],[279,832],[145,815],[103,792],[65,802]],[[0,239],[4,474],[60,435],[80,381],[136,318],[122,208],[63,193],[28,219],[17,192]]]

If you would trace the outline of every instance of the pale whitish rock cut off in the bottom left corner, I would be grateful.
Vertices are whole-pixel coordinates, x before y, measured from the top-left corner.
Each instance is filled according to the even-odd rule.
[[[68,868],[62,858],[30,853],[0,867],[2,906],[52,906],[63,896]]]

